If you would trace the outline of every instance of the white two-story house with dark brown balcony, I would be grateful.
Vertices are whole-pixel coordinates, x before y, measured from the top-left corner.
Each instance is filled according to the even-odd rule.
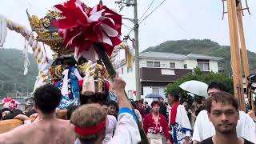
[[[222,58],[200,54],[174,54],[162,52],[142,52],[139,54],[139,69],[142,98],[146,94],[161,94],[165,98],[164,90],[169,83],[192,72],[198,66],[202,71],[218,73],[218,61]],[[127,68],[126,61],[118,63],[116,69],[126,81],[126,91],[129,98],[135,99],[135,64]]]

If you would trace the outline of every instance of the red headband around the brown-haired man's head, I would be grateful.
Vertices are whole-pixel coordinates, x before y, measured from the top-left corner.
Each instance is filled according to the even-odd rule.
[[[87,135],[98,134],[98,132],[100,132],[104,128],[106,128],[106,119],[104,119],[102,122],[98,123],[95,126],[90,126],[90,127],[75,126],[74,132],[82,136],[87,136]]]

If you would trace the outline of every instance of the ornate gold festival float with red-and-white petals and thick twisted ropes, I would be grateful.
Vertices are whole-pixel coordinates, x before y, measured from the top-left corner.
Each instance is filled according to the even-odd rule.
[[[122,42],[122,16],[106,6],[88,7],[80,1],[70,0],[54,6],[44,18],[30,15],[26,10],[31,30],[1,16],[1,43],[7,28],[22,34],[32,47],[38,63],[38,77],[34,90],[52,83],[62,92],[58,109],[87,102],[116,100],[110,81],[116,71],[114,62],[119,50],[126,51],[129,66],[134,61],[133,50]],[[51,64],[46,56],[45,45],[53,50]],[[24,48],[26,56],[27,47]],[[28,71],[25,57],[24,74]],[[0,123],[0,133],[22,125],[18,120]],[[142,138],[146,135],[140,127]],[[143,136],[144,135],[144,136]]]

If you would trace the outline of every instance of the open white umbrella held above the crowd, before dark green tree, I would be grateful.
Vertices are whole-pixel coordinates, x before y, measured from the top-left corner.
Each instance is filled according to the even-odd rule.
[[[183,82],[179,87],[182,88],[182,90],[186,90],[187,92],[190,92],[192,94],[196,94],[198,96],[207,97],[207,88],[208,85],[204,82],[200,81],[187,81]]]

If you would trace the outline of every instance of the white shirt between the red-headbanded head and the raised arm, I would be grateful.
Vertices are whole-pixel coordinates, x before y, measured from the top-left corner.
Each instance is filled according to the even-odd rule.
[[[107,115],[106,116],[108,119],[108,126],[106,127],[106,136],[103,140],[103,144],[105,144],[106,142],[110,141],[110,138],[113,137],[114,134],[114,130],[117,127],[117,119],[113,116],[113,115]]]

